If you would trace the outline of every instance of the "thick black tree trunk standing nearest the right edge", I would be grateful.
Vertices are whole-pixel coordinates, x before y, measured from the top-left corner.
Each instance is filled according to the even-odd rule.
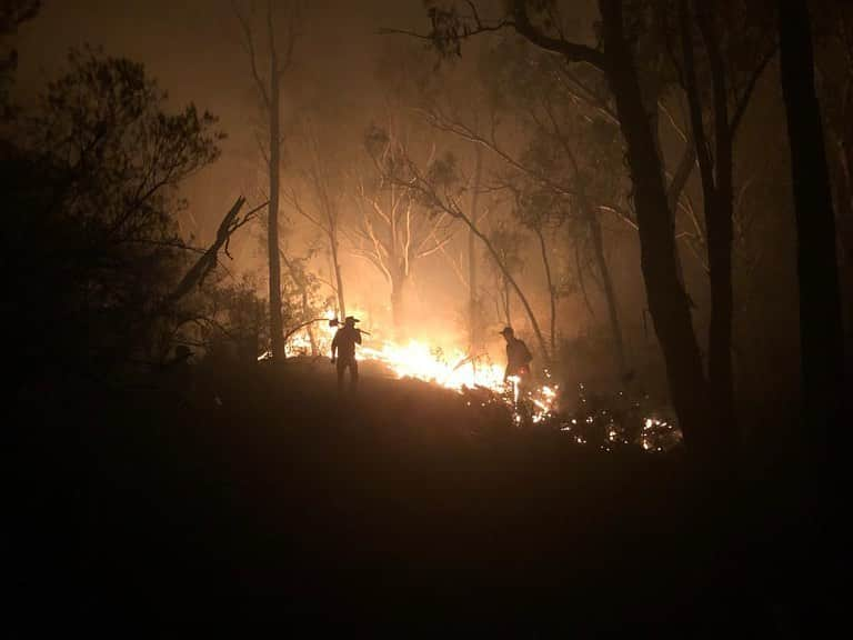
[[[797,229],[803,436],[821,466],[840,451],[844,339],[823,123],[814,89],[811,21],[804,0],[780,0],[782,91],[791,144]]]

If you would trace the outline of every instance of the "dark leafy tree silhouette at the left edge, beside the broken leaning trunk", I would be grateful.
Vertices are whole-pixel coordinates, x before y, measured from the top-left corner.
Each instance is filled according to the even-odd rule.
[[[178,188],[223,137],[211,114],[164,100],[142,64],[73,51],[3,143],[3,271],[14,333],[38,337],[17,358],[107,374],[147,357],[189,260]]]

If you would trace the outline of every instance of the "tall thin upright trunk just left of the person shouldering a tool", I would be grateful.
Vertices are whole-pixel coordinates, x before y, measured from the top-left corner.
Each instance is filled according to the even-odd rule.
[[[281,263],[279,260],[279,190],[281,171],[281,79],[293,60],[293,46],[297,40],[300,3],[298,0],[267,0],[265,30],[268,63],[265,73],[261,69],[260,54],[257,51],[254,30],[250,20],[238,4],[232,1],[234,13],[243,33],[243,44],[249,56],[252,80],[268,117],[268,139],[261,152],[267,160],[269,173],[270,207],[267,224],[267,242],[270,271],[270,336],[272,358],[284,357],[283,320],[281,316]],[[284,29],[275,28],[273,7],[283,7]],[[277,40],[279,38],[280,40]]]

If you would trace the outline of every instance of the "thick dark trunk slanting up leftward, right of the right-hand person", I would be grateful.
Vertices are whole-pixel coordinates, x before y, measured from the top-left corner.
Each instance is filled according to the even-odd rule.
[[[623,32],[622,2],[599,0],[599,6],[606,76],[628,144],[649,310],[663,350],[672,402],[691,453],[713,458],[717,443],[709,420],[702,358],[688,296],[679,278],[663,166],[643,108],[633,54]]]

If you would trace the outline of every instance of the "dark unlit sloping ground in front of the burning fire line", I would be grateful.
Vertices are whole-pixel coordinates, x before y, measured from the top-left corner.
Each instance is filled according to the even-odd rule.
[[[504,428],[417,382],[339,401],[328,363],[143,382],[19,399],[12,609],[33,636],[802,628],[795,536],[765,503],[732,551],[678,454]]]

